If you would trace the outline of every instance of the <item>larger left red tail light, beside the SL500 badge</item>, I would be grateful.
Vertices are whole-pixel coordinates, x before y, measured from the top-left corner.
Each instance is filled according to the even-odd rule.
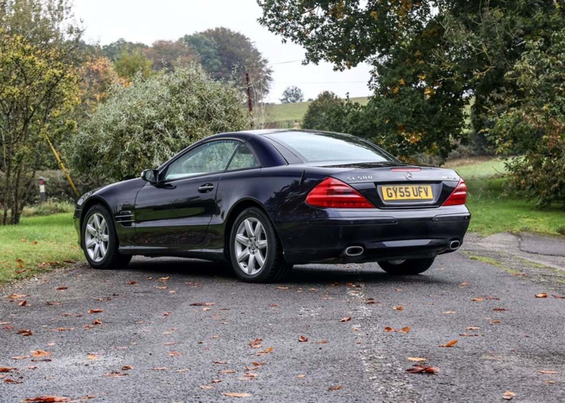
[[[306,203],[319,207],[375,208],[353,187],[331,177],[325,178],[308,193]]]

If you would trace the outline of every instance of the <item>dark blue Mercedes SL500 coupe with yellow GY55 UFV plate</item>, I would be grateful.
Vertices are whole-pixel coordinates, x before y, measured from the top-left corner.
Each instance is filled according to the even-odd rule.
[[[418,274],[462,244],[466,195],[453,170],[401,163],[352,135],[254,130],[212,135],[89,192],[75,223],[94,268],[145,255],[228,261],[250,282],[312,262]]]

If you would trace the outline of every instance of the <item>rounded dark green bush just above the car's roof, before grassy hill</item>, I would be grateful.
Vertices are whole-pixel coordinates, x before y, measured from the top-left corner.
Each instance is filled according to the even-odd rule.
[[[312,130],[344,132],[340,128],[344,115],[344,102],[332,91],[323,91],[314,99],[302,120],[302,127]]]

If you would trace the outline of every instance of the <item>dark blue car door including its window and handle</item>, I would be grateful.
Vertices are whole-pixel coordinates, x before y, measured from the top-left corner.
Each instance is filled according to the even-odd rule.
[[[147,183],[136,198],[136,240],[139,246],[194,249],[206,236],[218,209],[216,190],[233,152],[234,139],[203,143],[177,157]]]

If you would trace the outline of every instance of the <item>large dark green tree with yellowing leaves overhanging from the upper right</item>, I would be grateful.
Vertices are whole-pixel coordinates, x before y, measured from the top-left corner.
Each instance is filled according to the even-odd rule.
[[[343,70],[373,65],[367,135],[378,133],[401,157],[446,157],[464,140],[463,107],[477,133],[492,94],[528,38],[548,38],[565,22],[553,0],[310,1],[259,0],[260,23],[306,49],[306,61]],[[516,89],[512,89],[516,90]],[[472,95],[472,97],[470,96]],[[373,112],[373,113],[370,113]]]

